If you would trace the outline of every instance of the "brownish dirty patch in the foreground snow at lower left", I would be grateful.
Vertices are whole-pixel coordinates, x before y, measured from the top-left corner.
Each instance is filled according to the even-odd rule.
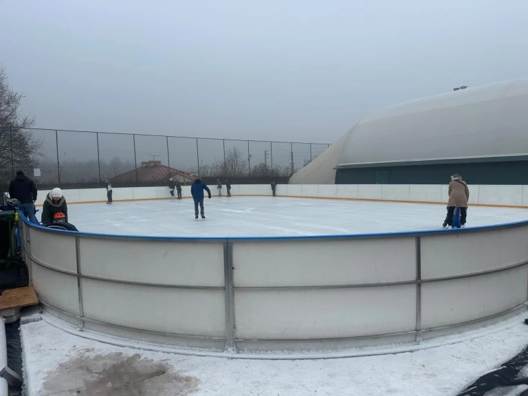
[[[41,396],[187,396],[199,380],[140,355],[80,355],[47,373]]]

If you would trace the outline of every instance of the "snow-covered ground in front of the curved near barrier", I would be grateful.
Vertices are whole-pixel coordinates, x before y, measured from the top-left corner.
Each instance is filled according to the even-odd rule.
[[[455,395],[525,347],[525,317],[445,337],[439,347],[430,348],[436,339],[414,352],[329,360],[243,360],[114,347],[45,320],[22,325],[21,334],[28,396],[439,396]]]

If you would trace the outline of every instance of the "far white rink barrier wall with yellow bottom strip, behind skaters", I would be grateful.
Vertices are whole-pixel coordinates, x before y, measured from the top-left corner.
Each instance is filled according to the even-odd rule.
[[[212,197],[217,188],[209,186]],[[528,208],[528,186],[478,186],[469,185],[470,205]],[[36,205],[41,206],[49,191],[39,191]],[[182,186],[182,197],[190,198],[190,186]],[[225,197],[225,186],[222,188]],[[233,196],[270,196],[267,184],[233,185]],[[448,185],[440,184],[278,184],[278,197],[344,199],[358,201],[431,203],[444,205],[448,201]],[[63,190],[67,203],[100,203],[107,201],[104,188]],[[169,199],[167,187],[113,188],[113,201],[142,201]]]

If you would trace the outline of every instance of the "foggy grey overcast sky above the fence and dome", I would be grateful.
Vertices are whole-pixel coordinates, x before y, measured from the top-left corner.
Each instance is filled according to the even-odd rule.
[[[528,75],[528,1],[0,0],[36,126],[333,142],[388,104]]]

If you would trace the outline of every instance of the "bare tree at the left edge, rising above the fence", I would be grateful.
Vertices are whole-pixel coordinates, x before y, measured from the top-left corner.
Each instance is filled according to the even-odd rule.
[[[17,169],[34,167],[34,156],[42,142],[26,130],[34,124],[34,117],[22,114],[19,107],[22,94],[13,91],[8,76],[0,65],[0,184],[5,184]]]

